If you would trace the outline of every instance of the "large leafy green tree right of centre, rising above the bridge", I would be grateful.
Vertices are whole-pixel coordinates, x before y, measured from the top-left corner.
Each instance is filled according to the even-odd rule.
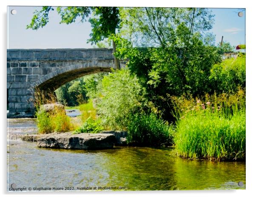
[[[128,67],[140,78],[162,118],[172,119],[167,95],[197,96],[211,91],[210,69],[220,57],[209,33],[214,22],[210,10],[125,8],[120,16],[120,33],[127,41],[116,38],[116,54],[129,58]]]

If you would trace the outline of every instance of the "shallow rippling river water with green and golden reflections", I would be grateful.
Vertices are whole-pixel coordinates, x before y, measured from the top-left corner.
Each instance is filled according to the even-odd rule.
[[[37,131],[34,119],[9,119],[8,125],[9,135]],[[13,183],[32,190],[245,189],[245,162],[187,160],[172,148],[61,150],[9,140],[7,154],[8,190]]]

